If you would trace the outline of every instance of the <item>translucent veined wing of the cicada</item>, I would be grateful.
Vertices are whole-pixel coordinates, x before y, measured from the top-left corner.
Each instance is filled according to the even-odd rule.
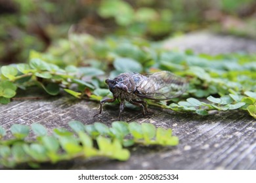
[[[184,78],[169,71],[161,71],[148,75],[147,80],[142,80],[135,93],[146,99],[167,100],[182,95],[187,86]]]

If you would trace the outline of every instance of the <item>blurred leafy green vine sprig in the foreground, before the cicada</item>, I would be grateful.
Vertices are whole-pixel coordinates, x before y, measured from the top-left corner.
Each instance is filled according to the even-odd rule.
[[[126,161],[130,158],[128,147],[177,146],[179,139],[171,129],[156,128],[152,124],[136,122],[113,122],[112,127],[96,122],[84,125],[79,121],[68,123],[72,131],[56,128],[48,135],[41,124],[32,124],[35,139],[26,139],[30,127],[14,124],[11,126],[12,139],[2,139],[5,129],[0,126],[0,165],[15,167],[25,163],[39,168],[40,163],[57,163],[75,158],[105,157]],[[31,132],[32,132],[31,131]]]

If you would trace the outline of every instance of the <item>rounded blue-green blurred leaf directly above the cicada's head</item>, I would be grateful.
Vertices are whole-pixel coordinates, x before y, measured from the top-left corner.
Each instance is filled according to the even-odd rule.
[[[114,61],[114,67],[117,71],[120,71],[122,73],[140,73],[143,69],[142,65],[139,62],[131,58],[116,58]]]

